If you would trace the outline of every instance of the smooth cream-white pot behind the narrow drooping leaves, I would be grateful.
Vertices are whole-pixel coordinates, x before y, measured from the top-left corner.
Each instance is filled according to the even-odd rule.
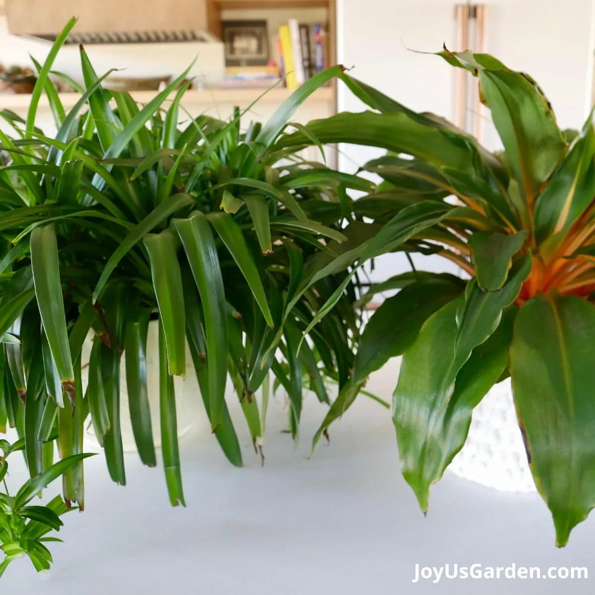
[[[82,350],[82,380],[83,390],[87,389],[87,367],[90,350],[93,345],[93,334],[87,336]],[[159,421],[159,323],[149,322],[149,333],[147,337],[147,393],[149,408],[151,409],[151,422],[153,440],[155,447],[161,446],[161,424]],[[196,380],[195,370],[192,365],[190,351],[186,346],[186,379],[174,376],[174,389],[176,391],[176,417],[178,423],[178,437],[184,436],[190,428],[199,423],[208,426],[208,418],[203,407],[201,392]],[[136,442],[130,421],[130,409],[128,406],[128,393],[126,390],[126,352],[120,362],[120,427],[122,434],[122,445],[124,452],[137,452]],[[210,428],[207,428],[210,431]],[[93,426],[89,424],[86,428],[84,447],[88,451],[99,452]]]

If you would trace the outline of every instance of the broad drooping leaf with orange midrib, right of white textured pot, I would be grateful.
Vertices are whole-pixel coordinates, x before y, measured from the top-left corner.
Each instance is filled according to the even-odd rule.
[[[594,329],[592,304],[548,293],[521,308],[511,346],[519,425],[559,547],[595,506],[595,441],[589,423],[595,415]]]

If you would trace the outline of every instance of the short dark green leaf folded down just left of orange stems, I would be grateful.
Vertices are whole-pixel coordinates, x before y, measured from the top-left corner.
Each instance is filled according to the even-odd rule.
[[[523,230],[513,234],[497,231],[476,231],[469,238],[477,283],[482,289],[500,289],[512,266],[512,257],[522,248],[528,237]]]

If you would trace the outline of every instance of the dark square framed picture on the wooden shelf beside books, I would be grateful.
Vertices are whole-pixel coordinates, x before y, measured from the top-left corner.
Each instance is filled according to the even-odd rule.
[[[268,26],[265,20],[223,21],[221,33],[226,66],[268,64]]]

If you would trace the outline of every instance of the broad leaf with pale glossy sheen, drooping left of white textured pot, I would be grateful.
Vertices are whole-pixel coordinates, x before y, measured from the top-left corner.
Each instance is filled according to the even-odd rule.
[[[431,484],[439,480],[457,452],[452,445],[443,450],[436,436],[441,431],[450,431],[443,427],[444,414],[449,412],[449,407],[455,406],[453,394],[458,374],[470,361],[474,349],[483,345],[499,327],[502,311],[518,295],[529,273],[530,262],[527,258],[516,264],[506,284],[494,292],[483,292],[475,279],[469,281],[465,296],[449,302],[428,318],[414,344],[403,355],[399,383],[393,394],[393,422],[397,430],[403,477],[414,490],[424,512],[428,509]],[[503,349],[505,352],[506,346]],[[436,358],[436,353],[441,356]],[[499,379],[505,367],[504,359],[502,368],[488,377],[486,392]],[[425,373],[419,374],[420,369],[424,369]],[[477,379],[481,378],[483,375],[478,373]],[[469,389],[465,394],[474,402],[478,393]],[[465,415],[468,409],[465,406]],[[464,432],[461,427],[457,428],[456,440],[461,436],[462,440],[460,444],[455,442],[460,448],[468,425],[463,424]]]

